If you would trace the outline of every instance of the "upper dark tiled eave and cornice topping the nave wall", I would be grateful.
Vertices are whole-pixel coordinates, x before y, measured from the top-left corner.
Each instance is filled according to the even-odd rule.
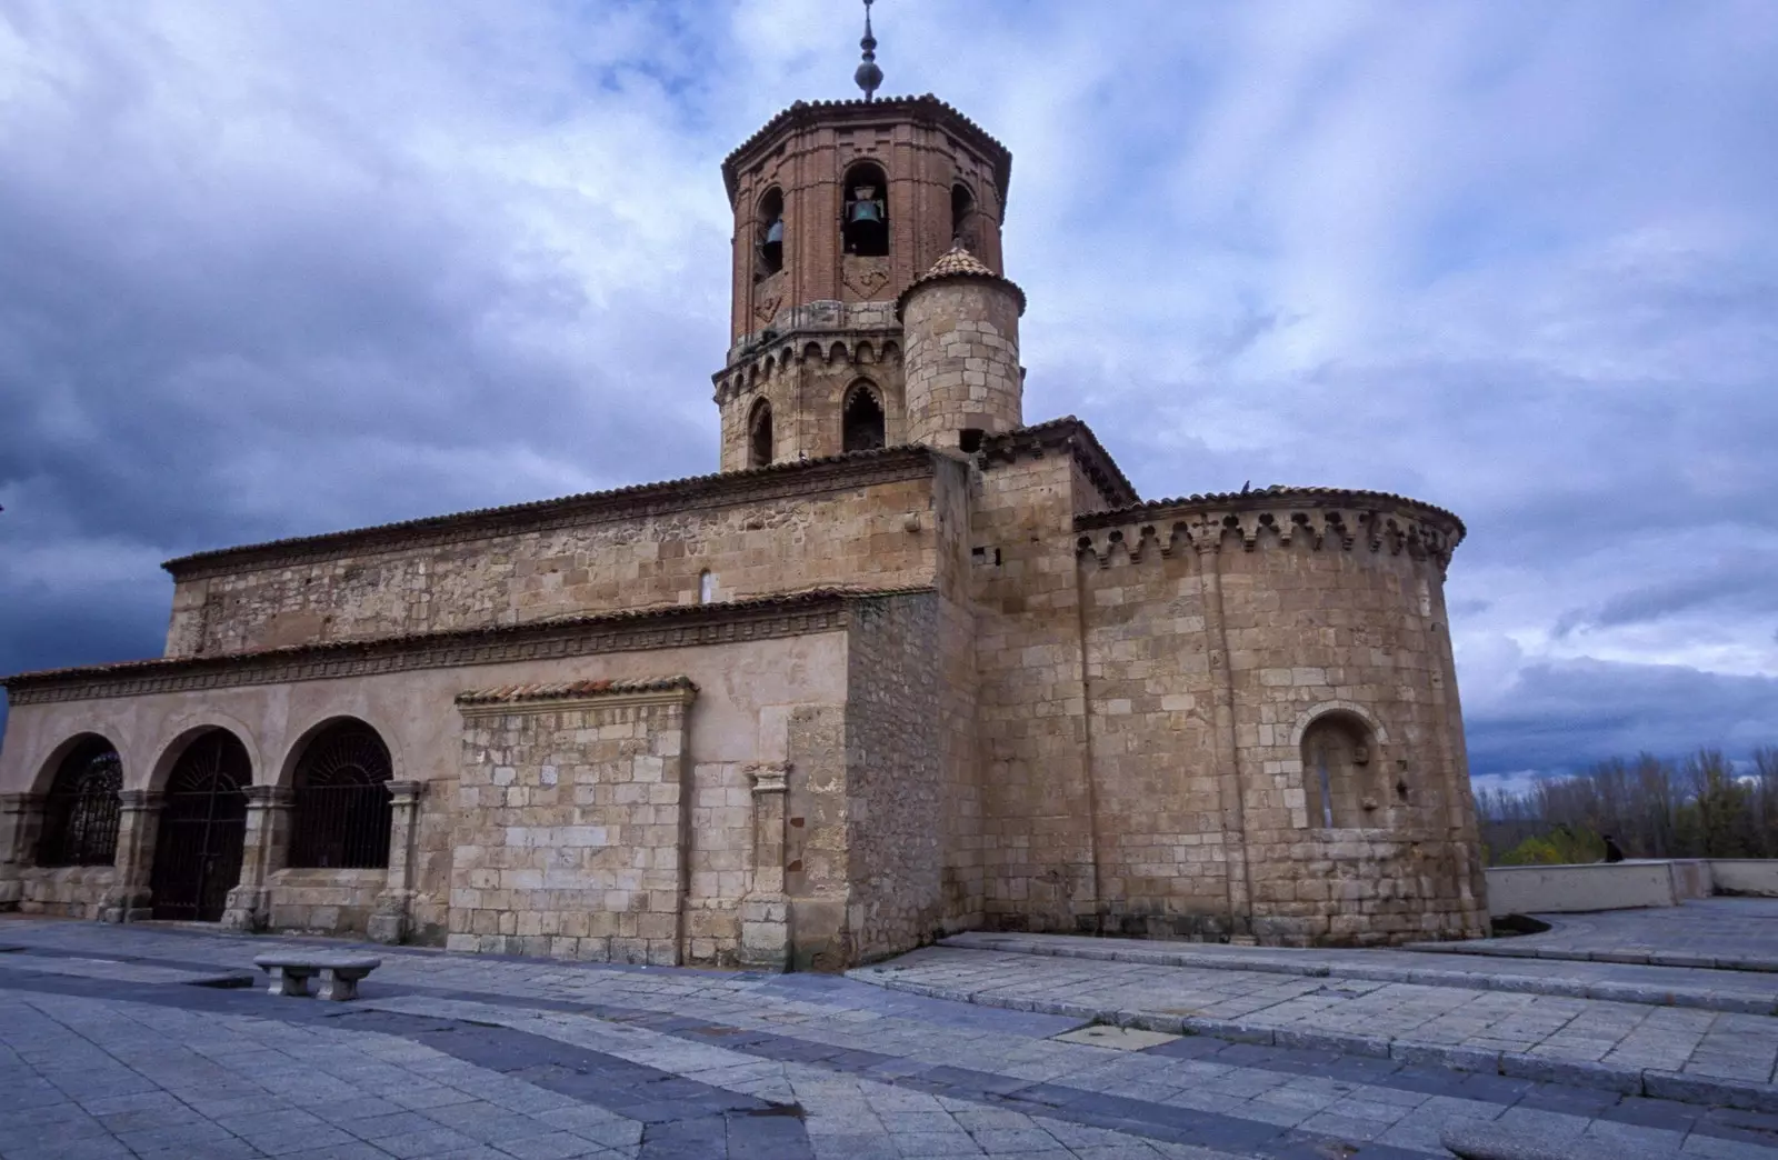
[[[608,520],[635,520],[738,503],[773,500],[800,500],[823,491],[868,487],[878,482],[917,479],[932,471],[930,452],[914,447],[877,452],[852,452],[821,459],[777,463],[749,471],[718,471],[661,484],[638,484],[613,491],[592,491],[485,507],[452,516],[404,520],[348,532],[274,539],[263,544],[199,552],[162,564],[176,580],[235,575],[265,568],[288,568],[316,560],[336,560],[343,555],[375,552],[412,552],[500,536],[523,536],[569,527],[583,527]]]

